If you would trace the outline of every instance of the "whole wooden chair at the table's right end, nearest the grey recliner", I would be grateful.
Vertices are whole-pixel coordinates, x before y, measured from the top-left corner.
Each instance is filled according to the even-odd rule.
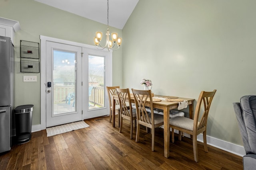
[[[197,135],[199,135],[200,133],[203,133],[204,151],[208,152],[207,142],[206,142],[206,127],[207,127],[209,109],[212,104],[212,99],[215,93],[216,93],[216,90],[213,90],[212,92],[202,91],[200,93],[197,104],[196,104],[194,120],[189,119],[187,117],[174,117],[170,119],[170,128],[172,128],[172,142],[174,142],[174,129],[188,133],[193,136],[193,152],[194,152],[194,160],[196,162],[198,162]],[[200,121],[198,121],[199,117],[201,117]],[[179,140],[181,140],[180,133],[179,133]]]

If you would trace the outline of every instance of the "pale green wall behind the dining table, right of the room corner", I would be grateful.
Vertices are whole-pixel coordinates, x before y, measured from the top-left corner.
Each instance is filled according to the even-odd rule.
[[[216,89],[207,135],[242,145],[232,103],[256,94],[255,7],[255,0],[139,0],[123,28],[123,86],[143,89],[148,78],[154,94],[196,100]]]

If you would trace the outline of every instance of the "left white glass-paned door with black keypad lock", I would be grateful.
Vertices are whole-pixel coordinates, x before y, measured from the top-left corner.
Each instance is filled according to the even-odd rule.
[[[46,42],[46,127],[82,120],[82,47]]]

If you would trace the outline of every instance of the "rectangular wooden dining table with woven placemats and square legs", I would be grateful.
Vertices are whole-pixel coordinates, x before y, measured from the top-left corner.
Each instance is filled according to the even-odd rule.
[[[163,97],[161,95],[154,95],[154,97]],[[183,100],[188,101],[188,107],[189,107],[189,118],[193,119],[194,115],[194,100],[191,98],[180,98]],[[115,104],[116,100],[118,100],[117,95],[112,96],[112,115],[113,115],[113,121],[112,126],[115,127]],[[135,103],[134,98],[131,98],[131,102]],[[147,106],[147,104],[146,104]],[[149,106],[149,103],[148,103]],[[162,109],[164,111],[164,157],[169,157],[169,149],[170,149],[170,127],[169,127],[169,120],[170,120],[170,110],[171,109],[177,109],[179,106],[179,102],[168,102],[165,100],[162,100],[160,102],[153,102],[153,107],[155,109]]]

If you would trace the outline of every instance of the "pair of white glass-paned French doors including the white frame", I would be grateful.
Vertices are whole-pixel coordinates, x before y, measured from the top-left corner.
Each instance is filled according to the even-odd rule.
[[[109,114],[112,51],[40,35],[41,129]]]

